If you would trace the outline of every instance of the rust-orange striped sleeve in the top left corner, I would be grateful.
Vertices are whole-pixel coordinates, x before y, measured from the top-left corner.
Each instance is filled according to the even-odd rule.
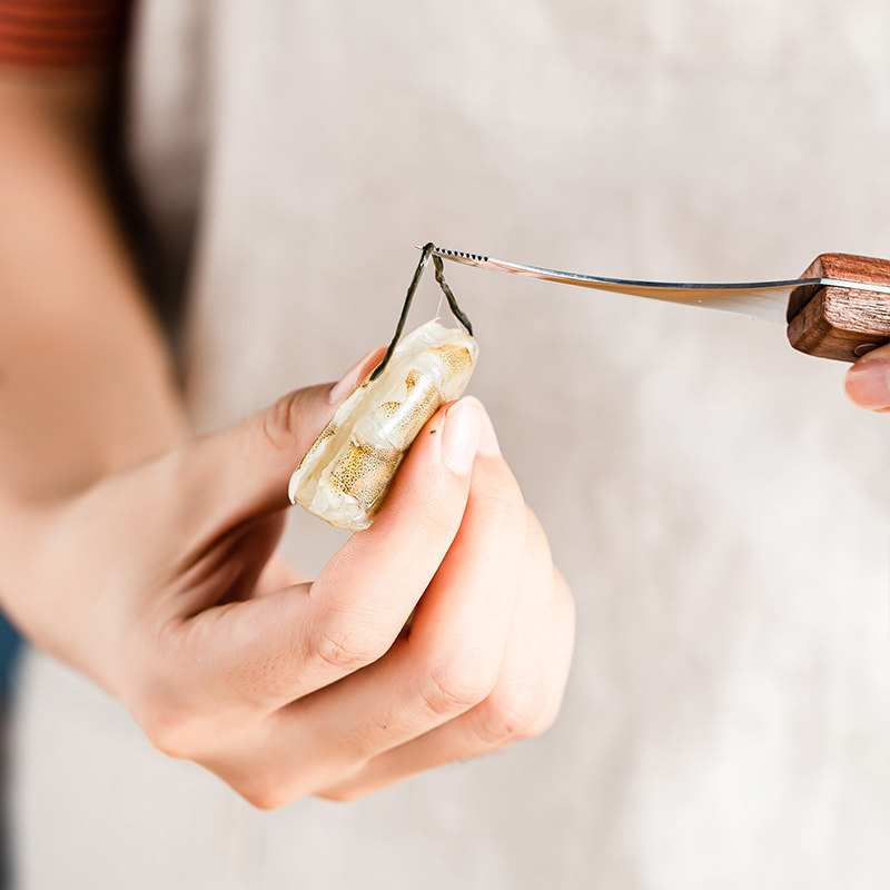
[[[0,0],[0,63],[68,68],[112,61],[129,0]]]

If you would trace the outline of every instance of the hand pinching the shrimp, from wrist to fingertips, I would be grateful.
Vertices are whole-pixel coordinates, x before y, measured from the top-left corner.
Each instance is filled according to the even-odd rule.
[[[571,594],[475,399],[433,417],[374,525],[315,581],[273,557],[330,394],[293,393],[3,526],[23,631],[261,808],[540,733],[571,660]]]

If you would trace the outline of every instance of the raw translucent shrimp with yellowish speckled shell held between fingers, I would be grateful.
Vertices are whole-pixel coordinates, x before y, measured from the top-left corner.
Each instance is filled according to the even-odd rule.
[[[477,352],[473,337],[438,322],[405,337],[380,376],[353,389],[300,461],[288,487],[291,503],[338,528],[367,528],[415,436],[463,394]]]

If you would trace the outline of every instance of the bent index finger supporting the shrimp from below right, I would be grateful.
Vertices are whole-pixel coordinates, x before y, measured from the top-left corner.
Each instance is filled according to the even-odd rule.
[[[315,582],[195,619],[201,652],[189,674],[197,662],[202,682],[224,701],[274,709],[379,659],[457,534],[479,427],[475,399],[437,412],[374,524],[356,532]]]

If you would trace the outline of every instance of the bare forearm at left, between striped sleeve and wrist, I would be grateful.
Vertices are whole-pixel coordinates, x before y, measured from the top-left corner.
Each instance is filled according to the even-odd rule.
[[[0,501],[53,500],[181,441],[162,337],[91,140],[97,76],[0,75]]]

